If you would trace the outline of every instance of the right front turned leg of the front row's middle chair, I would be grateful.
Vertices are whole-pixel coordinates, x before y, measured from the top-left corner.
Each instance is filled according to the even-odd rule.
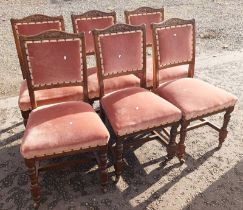
[[[176,135],[179,122],[175,123],[170,129],[170,141],[167,146],[167,160],[171,160],[177,153]]]

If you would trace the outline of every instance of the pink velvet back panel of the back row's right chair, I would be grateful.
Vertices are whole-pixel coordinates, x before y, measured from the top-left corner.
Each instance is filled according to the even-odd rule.
[[[159,23],[161,22],[161,13],[146,13],[141,15],[130,15],[129,22],[131,25],[146,25],[146,43],[152,44],[152,30],[151,23]]]

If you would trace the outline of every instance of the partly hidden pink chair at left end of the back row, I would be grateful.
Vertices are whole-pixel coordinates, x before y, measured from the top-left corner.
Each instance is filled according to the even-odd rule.
[[[19,90],[18,104],[24,120],[24,124],[26,125],[29,117],[29,113],[31,112],[31,105],[30,105],[30,97],[29,97],[29,92],[28,92],[28,87],[26,82],[26,73],[23,64],[23,55],[20,48],[19,36],[35,35],[51,29],[64,31],[65,30],[64,20],[62,16],[53,17],[53,16],[35,14],[21,19],[11,18],[10,21],[12,25],[12,31],[15,40],[17,55],[19,58],[20,69],[23,76],[23,81],[21,82],[20,90]],[[57,97],[60,97],[61,95],[62,92],[59,91],[59,96]],[[50,96],[53,96],[52,91],[51,92],[46,90],[39,91],[39,93],[37,94],[37,101],[44,102],[46,100],[49,100]]]

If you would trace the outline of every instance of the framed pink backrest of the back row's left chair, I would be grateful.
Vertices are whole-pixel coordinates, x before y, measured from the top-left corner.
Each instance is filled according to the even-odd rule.
[[[22,19],[11,19],[12,31],[14,35],[15,45],[18,53],[19,63],[23,78],[25,79],[25,72],[23,68],[23,56],[21,54],[19,36],[31,36],[41,32],[56,29],[64,31],[64,20],[62,16],[50,17],[46,15],[31,15]]]

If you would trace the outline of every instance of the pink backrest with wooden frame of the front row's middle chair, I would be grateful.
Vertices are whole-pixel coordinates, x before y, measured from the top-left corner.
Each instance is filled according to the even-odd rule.
[[[104,96],[104,79],[134,74],[141,86],[146,81],[145,25],[116,24],[93,31],[100,97]]]

